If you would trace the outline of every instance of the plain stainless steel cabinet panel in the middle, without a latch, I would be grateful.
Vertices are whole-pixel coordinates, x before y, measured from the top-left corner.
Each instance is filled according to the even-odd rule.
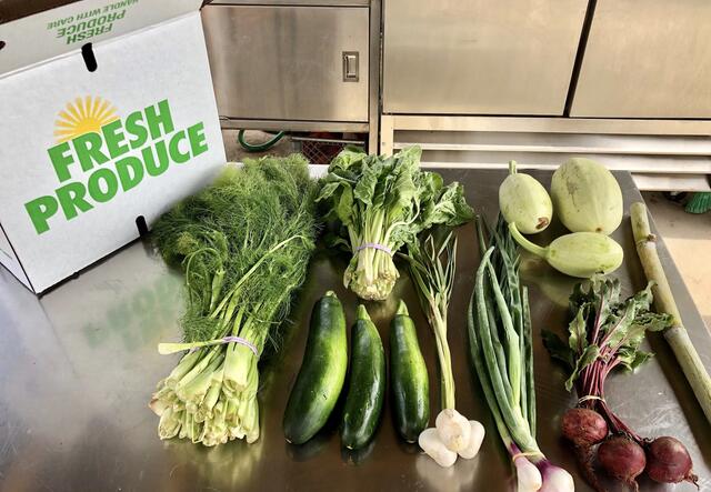
[[[383,4],[385,113],[563,113],[587,0]]]

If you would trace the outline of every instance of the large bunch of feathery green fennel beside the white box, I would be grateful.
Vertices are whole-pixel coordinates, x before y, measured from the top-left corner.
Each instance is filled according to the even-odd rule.
[[[306,278],[317,189],[301,155],[246,160],[156,223],[158,249],[186,278],[184,342],[161,343],[159,352],[189,350],[150,403],[161,439],[259,438],[258,363],[278,349],[279,325]]]

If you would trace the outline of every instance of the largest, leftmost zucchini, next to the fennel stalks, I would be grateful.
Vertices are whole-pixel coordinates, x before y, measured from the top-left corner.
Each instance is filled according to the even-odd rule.
[[[303,444],[326,424],[341,394],[347,369],[346,315],[341,301],[329,291],[311,312],[303,362],[284,411],[288,442]]]

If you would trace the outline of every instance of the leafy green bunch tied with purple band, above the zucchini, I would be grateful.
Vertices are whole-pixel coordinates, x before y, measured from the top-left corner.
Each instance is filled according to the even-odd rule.
[[[340,224],[337,244],[352,253],[343,284],[368,300],[387,299],[400,277],[392,257],[434,224],[472,219],[463,188],[420,170],[419,147],[391,157],[347,148],[329,165],[317,199]]]

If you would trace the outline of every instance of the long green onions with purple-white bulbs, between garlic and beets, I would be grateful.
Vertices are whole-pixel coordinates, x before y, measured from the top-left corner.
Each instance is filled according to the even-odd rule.
[[[535,439],[535,386],[528,290],[519,253],[499,217],[491,241],[477,218],[480,250],[468,312],[471,359],[499,435],[517,470],[519,492],[572,492],[572,476],[552,464]]]

